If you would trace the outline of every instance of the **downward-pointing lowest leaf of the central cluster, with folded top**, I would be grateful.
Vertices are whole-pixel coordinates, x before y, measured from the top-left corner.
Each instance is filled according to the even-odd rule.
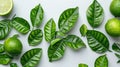
[[[59,60],[63,57],[65,52],[65,44],[61,39],[55,39],[51,42],[48,48],[49,61]]]

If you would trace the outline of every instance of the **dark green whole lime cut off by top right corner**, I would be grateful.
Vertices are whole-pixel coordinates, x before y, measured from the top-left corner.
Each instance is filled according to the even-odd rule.
[[[115,17],[120,17],[120,0],[113,0],[110,4],[110,12]]]

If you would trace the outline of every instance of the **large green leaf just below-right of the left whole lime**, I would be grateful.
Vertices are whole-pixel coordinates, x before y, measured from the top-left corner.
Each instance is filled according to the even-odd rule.
[[[34,48],[26,53],[20,59],[22,67],[36,67],[40,61],[42,56],[42,49],[41,48]]]

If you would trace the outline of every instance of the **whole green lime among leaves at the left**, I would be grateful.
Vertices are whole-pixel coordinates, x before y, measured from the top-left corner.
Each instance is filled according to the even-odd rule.
[[[17,56],[22,52],[22,43],[16,35],[5,40],[4,48],[7,53]]]

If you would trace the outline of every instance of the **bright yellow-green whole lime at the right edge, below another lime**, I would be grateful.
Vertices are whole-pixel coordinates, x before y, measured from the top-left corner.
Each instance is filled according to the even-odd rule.
[[[120,36],[120,20],[117,18],[109,19],[105,25],[105,29],[111,36]]]

